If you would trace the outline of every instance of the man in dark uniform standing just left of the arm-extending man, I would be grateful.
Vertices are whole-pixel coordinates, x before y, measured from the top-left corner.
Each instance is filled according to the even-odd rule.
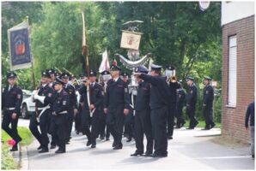
[[[136,69],[138,73],[148,74],[149,70],[144,66],[138,66]],[[131,156],[143,155],[144,145],[143,145],[143,134],[146,135],[147,139],[147,150],[144,156],[150,156],[153,152],[153,136],[152,127],[150,121],[150,85],[146,81],[143,81],[137,77],[137,97],[135,103],[135,117],[134,117],[134,134],[136,141],[137,150],[131,154]]]

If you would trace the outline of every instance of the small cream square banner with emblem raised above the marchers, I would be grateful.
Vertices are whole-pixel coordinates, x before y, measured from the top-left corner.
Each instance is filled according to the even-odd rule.
[[[121,48],[138,50],[141,32],[122,31]]]

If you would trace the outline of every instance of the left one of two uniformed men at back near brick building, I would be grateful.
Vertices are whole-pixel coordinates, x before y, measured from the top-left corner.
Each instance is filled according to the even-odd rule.
[[[186,78],[186,84],[189,86],[189,90],[186,93],[186,115],[188,116],[190,123],[187,129],[194,129],[198,125],[198,121],[195,118],[196,104],[197,104],[197,87],[194,84],[194,78],[188,76]]]

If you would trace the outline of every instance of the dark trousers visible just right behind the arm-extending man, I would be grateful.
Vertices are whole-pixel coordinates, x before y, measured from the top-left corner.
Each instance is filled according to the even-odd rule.
[[[168,109],[168,136],[174,134],[174,115],[176,115],[176,103],[170,103]]]

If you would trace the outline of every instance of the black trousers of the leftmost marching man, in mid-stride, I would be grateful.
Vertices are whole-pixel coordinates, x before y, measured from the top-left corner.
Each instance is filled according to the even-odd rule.
[[[17,126],[18,126],[18,119],[19,114],[15,120],[11,118],[11,115],[14,113],[14,110],[4,110],[3,111],[3,121],[2,121],[2,129],[9,134],[12,139],[15,139],[15,142],[21,141],[21,137],[18,133]],[[11,125],[11,128],[9,127]]]

